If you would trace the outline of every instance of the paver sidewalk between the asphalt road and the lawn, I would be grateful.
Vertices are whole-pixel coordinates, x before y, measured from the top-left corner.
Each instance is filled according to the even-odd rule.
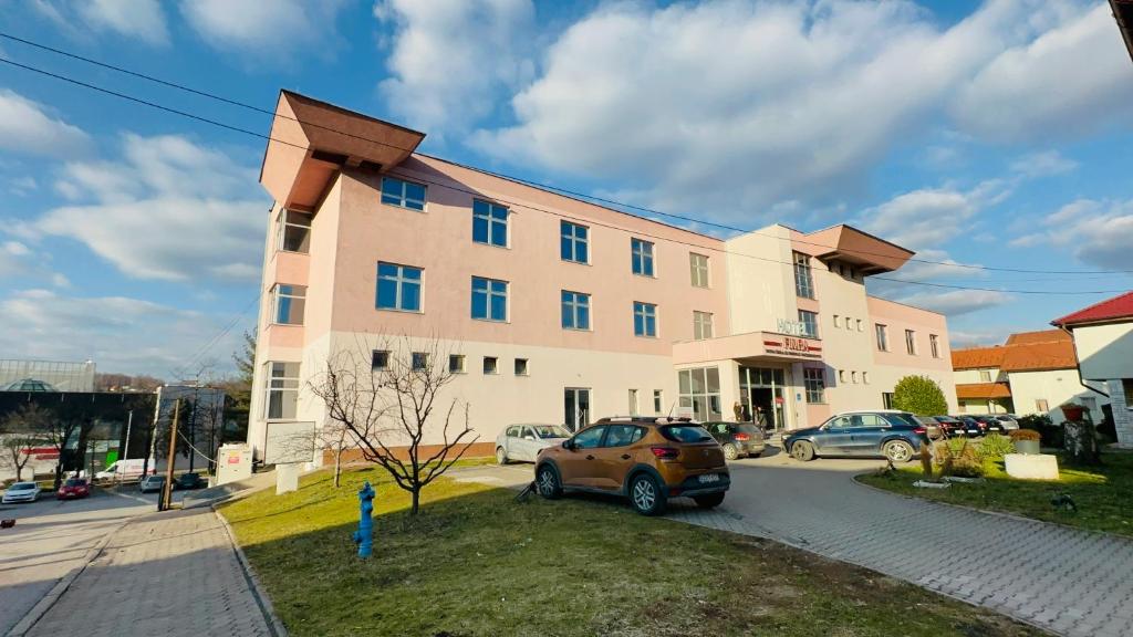
[[[271,631],[212,509],[119,529],[28,636],[267,636]]]

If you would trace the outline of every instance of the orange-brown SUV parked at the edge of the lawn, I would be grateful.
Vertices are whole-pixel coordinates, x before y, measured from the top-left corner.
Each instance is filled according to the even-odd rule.
[[[603,418],[561,445],[539,451],[539,494],[616,493],[646,516],[665,511],[670,498],[692,498],[710,509],[731,485],[719,443],[688,418]]]

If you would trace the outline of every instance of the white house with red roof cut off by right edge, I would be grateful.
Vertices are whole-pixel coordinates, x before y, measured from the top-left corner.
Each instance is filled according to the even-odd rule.
[[[1073,336],[1082,377],[1109,394],[1118,445],[1133,448],[1133,292],[1050,324]]]

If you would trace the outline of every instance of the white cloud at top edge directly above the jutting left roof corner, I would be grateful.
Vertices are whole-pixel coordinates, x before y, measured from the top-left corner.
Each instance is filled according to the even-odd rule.
[[[182,0],[181,14],[215,49],[258,61],[323,56],[333,49],[342,0]]]

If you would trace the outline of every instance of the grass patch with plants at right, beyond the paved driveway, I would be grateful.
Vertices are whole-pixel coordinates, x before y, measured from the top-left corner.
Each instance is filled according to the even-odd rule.
[[[921,477],[920,465],[915,462],[900,467],[892,476],[864,475],[858,479],[927,500],[1133,536],[1133,453],[1104,453],[1101,459],[1102,466],[1085,469],[1066,467],[1059,459],[1062,477],[1057,482],[1011,478],[1002,462],[988,465],[990,470],[981,484],[953,484],[948,489],[914,487],[912,483]],[[1071,496],[1077,512],[1050,504],[1050,499],[1060,493]]]

